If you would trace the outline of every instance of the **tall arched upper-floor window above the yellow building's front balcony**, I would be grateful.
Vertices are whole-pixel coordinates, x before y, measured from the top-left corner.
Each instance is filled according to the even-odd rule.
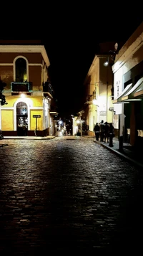
[[[16,65],[16,82],[26,82],[27,73],[26,73],[26,60],[19,58],[15,62]]]

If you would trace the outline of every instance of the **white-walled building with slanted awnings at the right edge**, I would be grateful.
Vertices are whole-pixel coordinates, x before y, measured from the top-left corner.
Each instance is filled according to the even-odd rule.
[[[132,146],[143,139],[143,22],[119,50],[114,72],[114,128]]]

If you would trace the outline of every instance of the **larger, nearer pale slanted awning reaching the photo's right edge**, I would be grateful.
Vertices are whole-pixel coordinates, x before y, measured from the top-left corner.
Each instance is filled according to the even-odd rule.
[[[126,101],[140,101],[142,100],[142,98],[137,98],[137,95],[135,95],[135,93],[139,92],[139,90],[142,90],[143,88],[143,77],[140,78],[137,83],[131,88],[131,90],[129,90],[128,93],[126,93],[123,97],[122,97],[122,103],[126,102]]]

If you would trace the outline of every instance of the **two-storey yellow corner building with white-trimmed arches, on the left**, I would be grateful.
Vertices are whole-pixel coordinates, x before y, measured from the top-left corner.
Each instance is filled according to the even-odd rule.
[[[0,41],[0,80],[6,83],[7,103],[0,106],[4,136],[54,135],[57,110],[49,65],[40,41]]]

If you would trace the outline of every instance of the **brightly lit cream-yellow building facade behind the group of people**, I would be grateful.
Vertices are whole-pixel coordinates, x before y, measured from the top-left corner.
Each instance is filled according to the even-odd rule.
[[[108,64],[104,66],[104,62]],[[95,55],[87,77],[84,80],[84,101],[81,119],[88,128],[89,136],[94,135],[94,125],[113,122],[113,75],[112,60],[108,54]],[[83,127],[83,125],[82,125]]]

